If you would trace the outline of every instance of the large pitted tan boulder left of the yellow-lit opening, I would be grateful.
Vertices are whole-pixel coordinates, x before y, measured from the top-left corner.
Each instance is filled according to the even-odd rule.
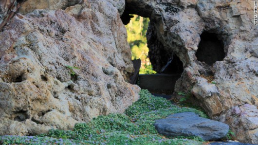
[[[0,32],[0,135],[72,129],[139,98],[115,1],[52,1],[56,10],[26,8]]]

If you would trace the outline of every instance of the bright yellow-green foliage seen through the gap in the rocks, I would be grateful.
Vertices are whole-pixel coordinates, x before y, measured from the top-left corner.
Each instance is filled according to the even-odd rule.
[[[151,63],[148,58],[148,47],[146,33],[148,29],[149,18],[143,18],[137,15],[130,20],[126,25],[128,34],[128,43],[132,52],[132,60],[140,58],[142,65],[140,74],[153,74],[156,73],[152,70]]]

